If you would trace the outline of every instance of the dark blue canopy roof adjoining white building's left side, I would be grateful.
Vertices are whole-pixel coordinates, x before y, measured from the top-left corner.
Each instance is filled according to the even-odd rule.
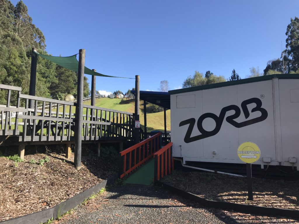
[[[131,90],[135,95],[135,90]],[[168,92],[156,92],[156,91],[140,91],[140,99],[160,107],[170,109],[170,95]]]

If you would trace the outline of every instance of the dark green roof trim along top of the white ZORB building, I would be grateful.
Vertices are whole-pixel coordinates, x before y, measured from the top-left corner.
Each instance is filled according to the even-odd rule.
[[[239,85],[239,84],[245,84],[245,83],[251,83],[251,82],[261,82],[266,80],[271,80],[274,78],[278,79],[299,79],[299,74],[274,74],[269,76],[259,76],[259,77],[253,77],[253,78],[247,78],[247,79],[239,79],[235,81],[227,81],[227,82],[219,82],[209,85],[200,85],[200,86],[194,86],[189,88],[183,88],[183,89],[176,89],[176,90],[169,90],[168,93],[170,95],[178,94],[178,93],[187,93],[187,92],[193,92],[198,90],[205,90],[205,89],[213,89],[213,88],[219,88],[219,87],[225,87],[225,86],[231,86],[231,85]]]

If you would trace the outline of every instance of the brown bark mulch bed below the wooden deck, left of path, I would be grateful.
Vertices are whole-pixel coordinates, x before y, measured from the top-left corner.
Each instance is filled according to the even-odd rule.
[[[32,163],[46,157],[44,165]],[[117,172],[111,159],[99,159],[91,151],[82,155],[80,171],[73,162],[74,154],[70,159],[56,153],[26,155],[17,164],[0,157],[0,221],[51,208]]]

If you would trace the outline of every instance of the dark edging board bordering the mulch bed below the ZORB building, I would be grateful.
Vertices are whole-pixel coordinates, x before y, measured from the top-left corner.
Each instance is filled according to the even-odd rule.
[[[201,205],[204,205],[206,207],[212,207],[212,208],[221,208],[223,210],[233,210],[238,212],[245,212],[245,213],[254,213],[254,214],[262,214],[262,215],[273,215],[273,216],[282,216],[282,217],[289,217],[293,219],[299,218],[299,210],[293,210],[293,209],[285,209],[285,208],[272,208],[272,207],[263,207],[263,206],[256,206],[256,205],[245,205],[245,204],[238,204],[238,203],[232,203],[232,202],[220,202],[220,201],[213,201],[213,200],[207,200],[203,197],[199,197],[196,194],[192,194],[187,191],[183,191],[179,188],[176,188],[172,185],[166,184],[161,181],[156,181],[156,185],[160,185],[163,188],[173,191],[180,196],[187,198],[189,200],[195,201]]]

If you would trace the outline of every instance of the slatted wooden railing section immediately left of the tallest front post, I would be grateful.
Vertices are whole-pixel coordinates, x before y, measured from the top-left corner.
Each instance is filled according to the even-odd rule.
[[[16,116],[16,126],[22,131],[22,141],[70,141],[74,136],[74,102],[20,94],[28,113]],[[33,108],[29,108],[31,101]],[[49,104],[46,109],[45,105]],[[52,104],[57,104],[56,108]],[[42,109],[38,109],[42,105]],[[62,106],[62,108],[60,108]],[[62,112],[60,111],[62,110]],[[19,123],[21,121],[21,123]]]

